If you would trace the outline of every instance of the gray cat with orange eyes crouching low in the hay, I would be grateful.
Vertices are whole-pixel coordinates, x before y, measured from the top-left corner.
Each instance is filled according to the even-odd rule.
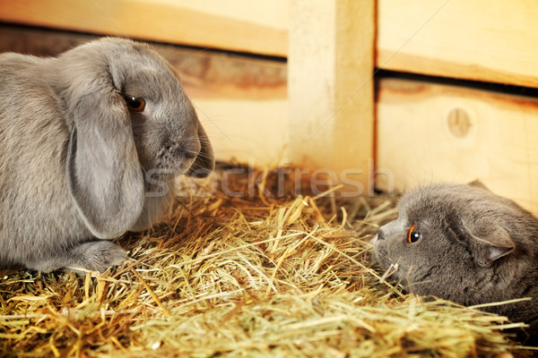
[[[373,241],[377,262],[395,281],[466,306],[532,297],[483,310],[525,321],[528,342],[537,343],[536,217],[478,182],[419,187],[399,200],[398,213]]]

